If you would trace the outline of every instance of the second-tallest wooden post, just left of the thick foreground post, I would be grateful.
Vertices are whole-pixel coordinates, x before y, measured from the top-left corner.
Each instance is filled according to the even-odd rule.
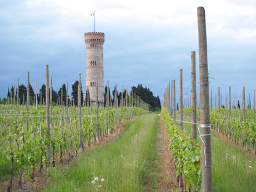
[[[196,140],[196,52],[191,51],[191,129],[192,140]]]

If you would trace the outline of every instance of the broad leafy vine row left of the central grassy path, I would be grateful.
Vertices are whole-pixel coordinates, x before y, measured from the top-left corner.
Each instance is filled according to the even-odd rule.
[[[116,111],[117,110],[117,111]],[[19,184],[22,187],[24,177],[34,180],[35,169],[44,174],[47,161],[47,145],[51,146],[52,167],[63,162],[64,154],[72,159],[79,151],[79,119],[78,108],[65,106],[52,107],[50,116],[50,140],[47,138],[46,106],[30,107],[26,113],[25,106],[0,105],[0,172],[1,182],[9,178],[4,175],[16,170],[20,172]],[[121,122],[139,114],[146,113],[142,108],[98,108],[98,121],[94,107],[82,108],[82,142],[84,149],[95,142],[96,127],[100,138],[111,134]],[[29,115],[27,115],[29,114]],[[28,125],[28,126],[27,126]],[[10,163],[12,164],[10,166]],[[14,164],[14,165],[13,165]],[[14,167],[15,170],[12,170]]]

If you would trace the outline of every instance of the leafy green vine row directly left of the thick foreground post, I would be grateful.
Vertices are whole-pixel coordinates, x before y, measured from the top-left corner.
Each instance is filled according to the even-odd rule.
[[[191,134],[180,130],[177,121],[170,118],[166,108],[162,108],[169,135],[172,155],[175,158],[175,167],[179,185],[183,185],[182,178],[185,178],[186,189],[189,191],[200,191],[201,189],[201,152],[198,142],[191,140]]]

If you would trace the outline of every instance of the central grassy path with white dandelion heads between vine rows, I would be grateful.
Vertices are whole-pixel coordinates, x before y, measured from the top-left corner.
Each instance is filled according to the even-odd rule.
[[[156,186],[158,126],[156,114],[127,122],[115,142],[81,154],[65,171],[54,169],[49,187],[42,191],[145,191]],[[92,184],[95,178],[92,173],[105,181],[99,179]]]

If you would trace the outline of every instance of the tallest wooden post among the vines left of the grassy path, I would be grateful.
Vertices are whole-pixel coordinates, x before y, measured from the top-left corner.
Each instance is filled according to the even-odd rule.
[[[50,116],[49,116],[49,67],[46,65],[46,127],[47,127],[47,160],[50,166]]]

